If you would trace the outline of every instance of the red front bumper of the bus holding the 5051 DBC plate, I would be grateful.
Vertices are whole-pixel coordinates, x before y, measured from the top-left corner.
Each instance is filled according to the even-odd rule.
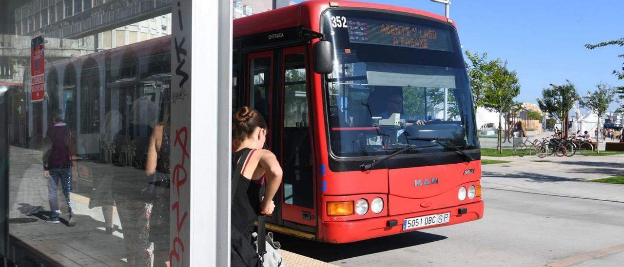
[[[464,210],[466,209],[466,210]],[[465,223],[466,221],[474,221],[483,218],[483,201],[467,203],[438,210],[427,210],[417,213],[407,213],[395,216],[383,216],[378,218],[369,218],[357,221],[324,221],[323,222],[323,238],[322,241],[329,243],[349,243],[359,240],[367,240],[380,236],[396,235],[398,233],[406,233],[409,231],[418,231],[427,228],[455,225],[457,223]],[[462,210],[463,214],[459,214]],[[451,213],[451,220],[441,225],[431,225],[422,228],[402,230],[404,219],[419,216]],[[465,212],[465,213],[464,213]],[[388,221],[396,220],[396,226],[387,226]]]

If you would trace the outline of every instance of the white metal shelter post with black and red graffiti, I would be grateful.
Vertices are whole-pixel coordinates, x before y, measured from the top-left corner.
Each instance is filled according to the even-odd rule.
[[[230,259],[231,9],[172,1],[170,266]]]

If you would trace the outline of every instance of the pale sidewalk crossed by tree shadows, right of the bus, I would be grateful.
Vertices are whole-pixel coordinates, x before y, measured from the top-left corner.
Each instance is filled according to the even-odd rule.
[[[624,175],[624,155],[482,158],[510,161],[482,166],[484,188],[624,203],[624,185],[588,182]],[[572,183],[582,186],[566,186]]]

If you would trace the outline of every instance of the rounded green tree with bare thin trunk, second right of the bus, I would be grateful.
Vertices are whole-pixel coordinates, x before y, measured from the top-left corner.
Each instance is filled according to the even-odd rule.
[[[499,62],[489,74],[492,86],[484,88],[484,107],[499,112],[499,134],[497,148],[502,153],[502,115],[514,107],[514,98],[520,94],[520,82],[514,71],[507,69],[507,62]]]

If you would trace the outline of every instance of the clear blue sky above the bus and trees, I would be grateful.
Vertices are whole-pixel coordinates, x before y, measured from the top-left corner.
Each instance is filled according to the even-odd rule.
[[[444,15],[444,5],[429,0],[361,0],[406,6]],[[296,1],[301,2],[301,1]],[[576,85],[578,94],[599,82],[624,85],[612,71],[622,67],[624,47],[588,50],[583,45],[624,37],[622,0],[452,0],[464,51],[487,52],[516,70],[521,92],[517,100],[536,102],[548,84]],[[610,110],[617,107],[612,104]]]

